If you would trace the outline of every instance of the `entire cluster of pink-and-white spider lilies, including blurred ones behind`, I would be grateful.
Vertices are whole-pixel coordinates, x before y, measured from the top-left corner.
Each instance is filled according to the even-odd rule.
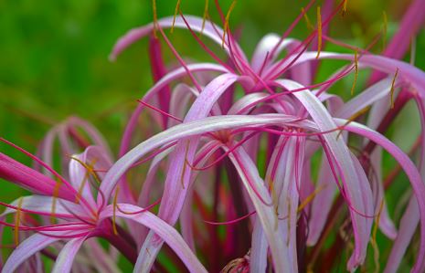
[[[416,253],[412,271],[424,272],[425,72],[398,58],[425,22],[425,1],[413,1],[380,55],[328,37],[347,1],[324,1],[311,34],[290,38],[314,2],[282,35],[263,37],[251,58],[228,26],[236,2],[225,13],[214,1],[221,18],[215,24],[208,5],[199,18],[184,15],[178,1],[175,16],[155,16],[120,38],[112,60],[149,38],[155,83],[138,100],[118,159],[99,131],[76,117],[48,131],[35,155],[1,139],[34,160],[30,168],[0,153],[0,177],[31,193],[0,203],[0,224],[16,240],[0,260],[2,272],[43,272],[42,257],[54,261],[54,272],[117,272],[121,256],[134,272],[170,265],[191,272],[325,272],[341,263],[352,272],[382,264],[396,272],[408,247]],[[165,28],[186,29],[214,62],[180,56]],[[177,66],[165,66],[161,42]],[[353,53],[324,51],[324,43]],[[317,82],[326,59],[345,65]],[[357,83],[360,70],[373,71],[365,84]],[[353,96],[343,100],[329,90],[348,75]],[[414,156],[384,136],[409,101],[422,127]],[[387,176],[385,152],[398,166]],[[385,196],[400,171],[411,192],[395,224]],[[382,264],[378,230],[392,241]]]

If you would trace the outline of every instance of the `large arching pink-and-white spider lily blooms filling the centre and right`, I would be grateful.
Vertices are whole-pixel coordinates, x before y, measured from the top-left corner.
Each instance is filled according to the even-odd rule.
[[[412,99],[418,102],[423,125],[425,73],[405,62],[373,55],[367,50],[360,50],[360,56],[357,53],[308,50],[314,38],[322,39],[324,26],[329,24],[344,5],[345,1],[341,2],[323,18],[318,9],[318,25],[304,41],[288,38],[289,32],[282,37],[267,35],[260,40],[250,60],[226,27],[228,18],[224,19],[218,5],[224,30],[210,21],[183,14],[130,30],[116,43],[112,50],[112,60],[125,47],[157,31],[181,66],[158,79],[144,95],[143,103],[134,111],[123,135],[122,157],[104,177],[104,194],[112,193],[122,175],[134,163],[154,149],[161,149],[151,163],[148,173],[151,178],[147,180],[149,183],[143,184],[144,194],[141,196],[145,197],[153,187],[152,173],[157,172],[159,163],[166,160],[164,193],[158,216],[171,226],[180,219],[182,234],[189,246],[194,248],[194,231],[191,227],[194,219],[189,215],[190,204],[195,198],[194,191],[198,190],[196,176],[202,171],[202,168],[197,169],[194,166],[201,161],[208,165],[208,160],[217,163],[211,158],[221,151],[218,154],[224,156],[219,158],[228,157],[229,172],[233,170],[238,173],[238,180],[243,185],[239,189],[242,197],[238,199],[242,204],[235,205],[243,205],[250,211],[255,211],[255,215],[250,215],[251,248],[250,258],[246,259],[249,260],[247,262],[252,271],[263,272],[268,266],[272,266],[276,272],[297,272],[302,265],[309,263],[303,249],[316,246],[320,251],[327,235],[325,225],[335,223],[333,221],[336,216],[330,214],[331,207],[336,205],[336,215],[339,215],[338,201],[335,205],[333,202],[336,189],[341,194],[339,202],[345,201],[348,208],[348,219],[351,222],[348,234],[354,239],[354,249],[347,262],[349,271],[364,264],[368,242],[371,236],[372,239],[375,236],[372,234],[374,222],[390,239],[396,238],[392,252],[395,258],[388,262],[388,272],[398,267],[399,259],[409,245],[412,231],[420,223],[420,249],[413,272],[423,271],[425,186],[420,175],[423,168],[416,166],[409,156],[382,133],[388,129],[406,102]],[[300,17],[297,18],[299,19]],[[165,35],[164,29],[170,27],[187,29],[199,46],[218,63],[186,64]],[[228,61],[218,58],[212,49],[197,38],[196,32],[202,32],[202,35],[221,45]],[[317,48],[320,50],[320,46]],[[282,53],[286,55],[279,59]],[[313,65],[317,60],[325,59],[347,60],[350,65],[335,71],[324,82],[313,83]],[[387,77],[367,86],[351,100],[344,101],[327,92],[337,80],[349,73],[370,68]],[[205,73],[219,75],[212,77],[210,81],[199,82],[197,76]],[[193,86],[177,85],[169,97],[170,84],[186,76],[192,80]],[[237,84],[244,91],[244,96],[235,101],[231,89]],[[157,97],[162,98],[161,92],[167,93],[168,99],[164,101],[168,101],[169,105],[164,106],[164,101],[160,105],[154,100]],[[193,97],[194,102],[186,106],[188,97]],[[231,106],[225,107],[225,103]],[[178,115],[184,118],[170,121],[167,130],[129,150],[136,121],[146,105],[151,105],[152,109],[159,112],[170,110],[168,116]],[[367,113],[365,109],[369,108],[368,127],[357,123],[356,118]],[[256,133],[259,135],[255,135]],[[271,141],[265,148],[267,165],[264,179],[260,177],[257,162],[258,156],[264,153],[260,134],[271,135]],[[423,135],[422,133],[422,138]],[[356,148],[360,151],[358,155],[350,149],[349,139],[353,136],[364,140]],[[374,153],[373,159],[369,156],[377,146],[390,153],[409,177],[414,195],[406,212],[406,220],[404,217],[402,220],[403,223],[414,219],[414,228],[411,227],[409,231],[400,228],[398,232],[390,219],[384,201],[381,171],[374,170],[377,164],[371,163],[371,160],[379,159],[379,154]],[[322,166],[318,181],[314,182],[309,172],[314,163],[313,154],[317,152],[322,153]],[[421,157],[423,154],[425,153],[422,152]],[[212,167],[218,168],[218,164],[212,164]],[[377,178],[371,174],[371,170],[379,174]],[[238,184],[233,181],[230,183]],[[377,186],[372,186],[374,184]],[[235,193],[232,194],[232,197],[236,196]],[[330,222],[326,223],[326,220]],[[305,240],[298,239],[300,236]],[[151,230],[141,237],[140,242],[143,244],[134,270],[148,272],[163,240]],[[316,261],[318,252],[310,252],[312,260]],[[272,265],[268,265],[269,253]],[[311,268],[315,266],[309,265]]]

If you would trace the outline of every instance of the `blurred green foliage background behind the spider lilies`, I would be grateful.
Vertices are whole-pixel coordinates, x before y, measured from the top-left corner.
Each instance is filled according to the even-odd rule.
[[[213,1],[209,2],[210,13],[217,19]],[[219,2],[225,11],[231,4],[229,0]],[[239,0],[230,26],[240,30],[240,44],[250,56],[260,37],[282,33],[307,2]],[[175,3],[157,0],[158,16],[173,15]],[[331,37],[365,47],[381,30],[383,11],[388,14],[390,37],[407,5],[409,1],[400,0],[348,1],[347,15],[336,16],[331,24]],[[202,16],[204,1],[182,0],[181,8],[186,14]],[[309,16],[315,22],[314,9]],[[135,100],[152,85],[152,78],[146,39],[114,63],[108,61],[108,55],[118,37],[152,18],[150,0],[0,0],[0,136],[35,152],[52,124],[77,115],[94,123],[116,152]],[[302,21],[292,37],[307,34]],[[183,56],[205,58],[183,31],[168,36]],[[425,49],[423,30],[417,43],[421,54]],[[174,61],[168,52],[165,55]],[[417,58],[417,65],[425,68],[423,56]],[[322,71],[332,72],[332,67]],[[30,162],[4,144],[0,151],[22,163]],[[20,193],[17,187],[1,182],[2,201],[11,201]]]

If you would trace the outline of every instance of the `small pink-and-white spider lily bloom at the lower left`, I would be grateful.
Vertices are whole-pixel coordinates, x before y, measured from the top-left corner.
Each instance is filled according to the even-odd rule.
[[[101,147],[89,146],[84,152],[73,155],[69,161],[69,180],[66,180],[36,156],[11,142],[3,139],[2,142],[26,153],[58,180],[55,181],[22,163],[17,163],[3,153],[0,154],[0,177],[32,193],[32,195],[18,198],[11,204],[2,203],[6,206],[6,210],[1,217],[15,214],[16,223],[2,221],[1,224],[14,227],[16,234],[19,231],[33,233],[18,244],[5,261],[2,272],[15,272],[28,257],[60,241],[65,241],[65,245],[58,252],[52,271],[70,272],[80,247],[91,237],[106,238],[112,246],[122,251],[122,255],[135,262],[136,249],[131,241],[124,239],[130,236],[126,236],[123,229],[115,222],[115,218],[131,219],[152,228],[170,244],[171,248],[175,249],[177,256],[182,257],[187,268],[205,272],[205,268],[173,227],[139,206],[115,202],[108,205],[112,193],[102,194],[102,185],[90,185],[92,179],[95,180],[94,183],[101,183],[104,172],[112,165],[108,153]],[[98,193],[97,198],[93,193]],[[34,217],[30,217],[31,221],[28,221],[22,218],[22,214],[38,215],[42,218],[49,216],[58,223],[50,225],[39,223]],[[96,252],[101,254],[101,258],[108,257],[97,243],[90,242],[88,247],[97,249]],[[99,263],[101,260],[97,263],[97,266],[101,268]]]

